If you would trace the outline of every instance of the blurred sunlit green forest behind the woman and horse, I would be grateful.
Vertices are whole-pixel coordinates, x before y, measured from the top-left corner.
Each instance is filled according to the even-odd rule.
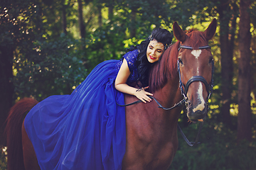
[[[256,169],[255,5],[253,0],[0,1],[0,169],[6,169],[4,122],[16,101],[70,94],[97,64],[120,59],[152,29],[172,31],[177,21],[183,30],[205,30],[213,18],[218,20],[209,42],[214,87],[201,144],[188,147],[179,134],[170,169]],[[186,114],[179,124],[194,140],[198,124],[188,123]]]

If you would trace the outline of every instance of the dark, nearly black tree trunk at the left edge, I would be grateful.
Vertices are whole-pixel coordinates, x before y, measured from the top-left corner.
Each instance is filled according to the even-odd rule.
[[[14,86],[11,81],[13,78],[13,58],[14,50],[11,47],[0,47],[0,146],[5,145],[4,122],[13,104]]]

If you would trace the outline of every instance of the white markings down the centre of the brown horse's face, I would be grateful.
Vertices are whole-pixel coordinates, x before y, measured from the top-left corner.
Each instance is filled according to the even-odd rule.
[[[196,57],[196,60],[198,60],[198,57],[201,55],[202,50],[192,50],[191,54]],[[199,68],[197,68],[197,72],[199,73]],[[196,108],[193,108],[193,112],[196,111],[203,111],[205,108],[205,101],[203,99],[203,84],[200,82],[199,87],[198,87],[198,101],[201,101],[201,103],[196,106]]]

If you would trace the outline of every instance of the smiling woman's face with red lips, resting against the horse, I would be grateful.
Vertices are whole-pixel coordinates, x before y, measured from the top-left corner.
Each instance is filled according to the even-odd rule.
[[[157,42],[155,39],[149,42],[149,45],[146,49],[146,58],[150,63],[157,62],[159,57],[164,52],[164,45],[161,42]]]

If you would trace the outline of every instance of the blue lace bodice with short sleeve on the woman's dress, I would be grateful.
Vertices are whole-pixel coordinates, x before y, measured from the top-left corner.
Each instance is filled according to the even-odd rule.
[[[127,79],[127,84],[134,83],[139,78],[139,73],[137,72],[136,67],[136,60],[138,55],[138,50],[129,51],[122,57],[122,60],[120,60],[120,62],[117,63],[117,69],[119,70],[122,65],[122,61],[124,59],[127,60],[129,71],[131,72],[129,78]]]

